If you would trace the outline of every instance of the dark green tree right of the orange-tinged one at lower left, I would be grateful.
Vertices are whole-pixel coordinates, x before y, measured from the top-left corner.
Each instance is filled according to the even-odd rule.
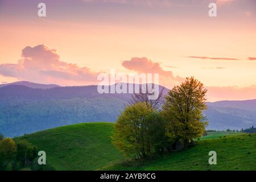
[[[32,160],[36,157],[36,147],[27,140],[19,140],[16,142],[17,155],[16,162],[20,162],[24,168],[32,164]]]

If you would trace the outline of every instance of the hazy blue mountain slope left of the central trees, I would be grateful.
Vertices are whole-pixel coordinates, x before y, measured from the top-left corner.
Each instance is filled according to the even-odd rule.
[[[131,94],[99,94],[97,86],[32,89],[23,85],[0,88],[0,133],[24,133],[79,122],[114,122]]]

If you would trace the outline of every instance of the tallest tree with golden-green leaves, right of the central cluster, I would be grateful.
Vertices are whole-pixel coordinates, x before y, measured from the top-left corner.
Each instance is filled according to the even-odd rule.
[[[163,115],[168,122],[167,135],[171,142],[181,142],[185,146],[205,132],[203,110],[207,109],[205,94],[207,89],[194,77],[188,77],[179,86],[174,86],[163,104]]]

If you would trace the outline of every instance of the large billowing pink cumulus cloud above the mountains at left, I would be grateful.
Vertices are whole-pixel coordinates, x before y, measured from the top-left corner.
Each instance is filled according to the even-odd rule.
[[[55,49],[38,45],[22,50],[22,58],[16,64],[0,64],[0,74],[19,80],[56,83],[60,85],[89,84],[97,81],[98,73],[86,67],[60,61]]]

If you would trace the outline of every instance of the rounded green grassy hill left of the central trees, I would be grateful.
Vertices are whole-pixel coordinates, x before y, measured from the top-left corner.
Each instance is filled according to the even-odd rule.
[[[47,163],[56,170],[97,170],[122,159],[111,143],[113,126],[109,122],[80,123],[18,139],[46,151]]]

